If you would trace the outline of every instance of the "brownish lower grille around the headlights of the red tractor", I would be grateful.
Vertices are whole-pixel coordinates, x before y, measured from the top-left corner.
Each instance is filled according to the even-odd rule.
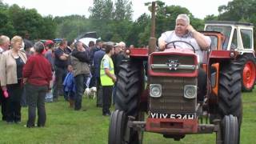
[[[150,83],[162,85],[162,97],[149,98],[149,108],[154,113],[193,113],[197,99],[184,98],[184,86],[197,86],[197,78],[151,77]]]

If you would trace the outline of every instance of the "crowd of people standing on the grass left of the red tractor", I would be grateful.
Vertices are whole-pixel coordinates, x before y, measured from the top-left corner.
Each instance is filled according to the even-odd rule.
[[[102,107],[102,115],[109,116],[118,66],[126,58],[125,48],[125,42],[100,39],[88,45],[79,41],[69,44],[62,39],[56,45],[52,40],[33,43],[20,36],[10,39],[1,35],[2,121],[20,123],[22,106],[28,106],[26,127],[43,127],[45,102],[58,102],[64,96],[70,108],[85,110],[82,96],[86,90],[94,90],[96,106]]]

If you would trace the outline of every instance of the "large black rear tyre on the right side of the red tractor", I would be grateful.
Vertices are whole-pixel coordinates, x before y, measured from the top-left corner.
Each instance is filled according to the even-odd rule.
[[[242,78],[238,62],[226,63],[222,66],[218,90],[218,115],[234,115],[242,123]]]

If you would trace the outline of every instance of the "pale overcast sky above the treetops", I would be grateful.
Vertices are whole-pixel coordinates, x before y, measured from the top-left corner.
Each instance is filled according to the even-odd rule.
[[[149,13],[145,2],[152,0],[131,0],[133,2],[133,19],[136,20],[141,14]],[[176,5],[186,7],[196,18],[205,18],[209,14],[218,14],[218,6],[227,5],[231,0],[162,0],[166,5]],[[86,15],[88,18],[88,8],[93,6],[93,0],[3,0],[9,5],[18,4],[26,8],[35,8],[42,16],[53,15],[66,16],[71,14]]]

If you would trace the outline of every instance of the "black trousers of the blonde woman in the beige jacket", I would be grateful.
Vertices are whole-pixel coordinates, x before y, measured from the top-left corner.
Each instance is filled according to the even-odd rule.
[[[21,122],[21,81],[6,87],[9,94],[9,98],[6,98],[6,122]]]

